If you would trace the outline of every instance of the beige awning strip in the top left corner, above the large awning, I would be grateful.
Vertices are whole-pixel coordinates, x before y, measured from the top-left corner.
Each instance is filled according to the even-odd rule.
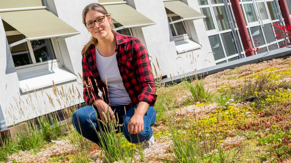
[[[0,9],[43,6],[41,0],[0,0]]]

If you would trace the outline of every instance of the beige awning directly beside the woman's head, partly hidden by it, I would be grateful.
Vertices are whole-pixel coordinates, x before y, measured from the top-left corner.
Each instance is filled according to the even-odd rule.
[[[115,28],[114,30],[144,27],[155,24],[155,22],[127,4],[108,4],[104,5],[104,7],[108,13],[112,14],[112,18],[122,25],[122,27]]]

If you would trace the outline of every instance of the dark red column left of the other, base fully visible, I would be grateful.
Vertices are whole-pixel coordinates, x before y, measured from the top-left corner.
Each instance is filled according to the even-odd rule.
[[[230,0],[231,6],[233,8],[233,13],[235,16],[236,24],[238,25],[238,30],[240,31],[240,37],[242,39],[242,45],[245,50],[252,49],[252,43],[250,41],[250,36],[247,31],[247,26],[245,24],[245,19],[243,17],[242,9],[240,8],[239,0]],[[251,56],[255,55],[254,51],[247,50],[245,55]]]

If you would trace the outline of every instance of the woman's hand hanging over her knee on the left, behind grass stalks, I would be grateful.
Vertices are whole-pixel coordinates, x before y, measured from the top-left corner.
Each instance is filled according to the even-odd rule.
[[[93,102],[93,105],[97,107],[101,120],[103,122],[108,122],[108,120],[113,120],[116,123],[116,118],[110,106],[103,100],[97,100]],[[108,116],[109,112],[109,116]]]

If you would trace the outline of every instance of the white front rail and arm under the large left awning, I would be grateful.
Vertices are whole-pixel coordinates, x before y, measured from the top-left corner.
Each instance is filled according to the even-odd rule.
[[[49,36],[41,36],[41,37],[34,37],[34,38],[25,38],[25,39],[16,41],[15,43],[9,44],[9,47],[13,47],[13,46],[22,44],[22,43],[24,43],[26,41],[46,39],[46,38],[54,38],[54,37],[57,37],[57,39],[55,41],[58,41],[60,39],[67,38],[67,37],[70,37],[70,36],[73,36],[73,35],[78,35],[78,34],[80,34],[80,32],[58,34],[58,35],[49,35]]]

